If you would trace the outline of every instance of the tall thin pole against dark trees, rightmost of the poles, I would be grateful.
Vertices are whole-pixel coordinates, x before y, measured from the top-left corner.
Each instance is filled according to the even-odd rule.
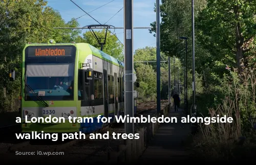
[[[195,79],[195,18],[194,18],[194,0],[191,0],[192,5],[192,69],[193,69],[193,113],[196,111],[196,79]]]

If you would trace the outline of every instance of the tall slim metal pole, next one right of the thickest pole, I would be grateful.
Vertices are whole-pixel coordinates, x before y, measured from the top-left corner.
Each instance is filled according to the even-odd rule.
[[[161,93],[160,93],[160,0],[156,0],[157,12],[157,113],[161,112]]]

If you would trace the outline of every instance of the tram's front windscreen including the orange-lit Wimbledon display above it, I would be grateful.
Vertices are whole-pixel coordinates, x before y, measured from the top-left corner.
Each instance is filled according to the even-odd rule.
[[[25,90],[26,100],[38,100],[37,96],[45,101],[74,100],[75,48],[59,47],[28,47],[25,51],[25,84],[30,87]],[[52,55],[46,56],[46,52]]]

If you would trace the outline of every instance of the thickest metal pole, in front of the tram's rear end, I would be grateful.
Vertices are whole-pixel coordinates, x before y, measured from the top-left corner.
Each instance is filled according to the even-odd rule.
[[[124,0],[124,115],[134,116],[133,98],[133,0]],[[125,133],[134,133],[134,123],[125,121]]]

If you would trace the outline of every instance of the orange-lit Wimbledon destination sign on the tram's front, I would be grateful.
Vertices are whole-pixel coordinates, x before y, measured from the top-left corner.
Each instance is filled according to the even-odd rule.
[[[28,46],[27,57],[70,57],[74,46]]]

